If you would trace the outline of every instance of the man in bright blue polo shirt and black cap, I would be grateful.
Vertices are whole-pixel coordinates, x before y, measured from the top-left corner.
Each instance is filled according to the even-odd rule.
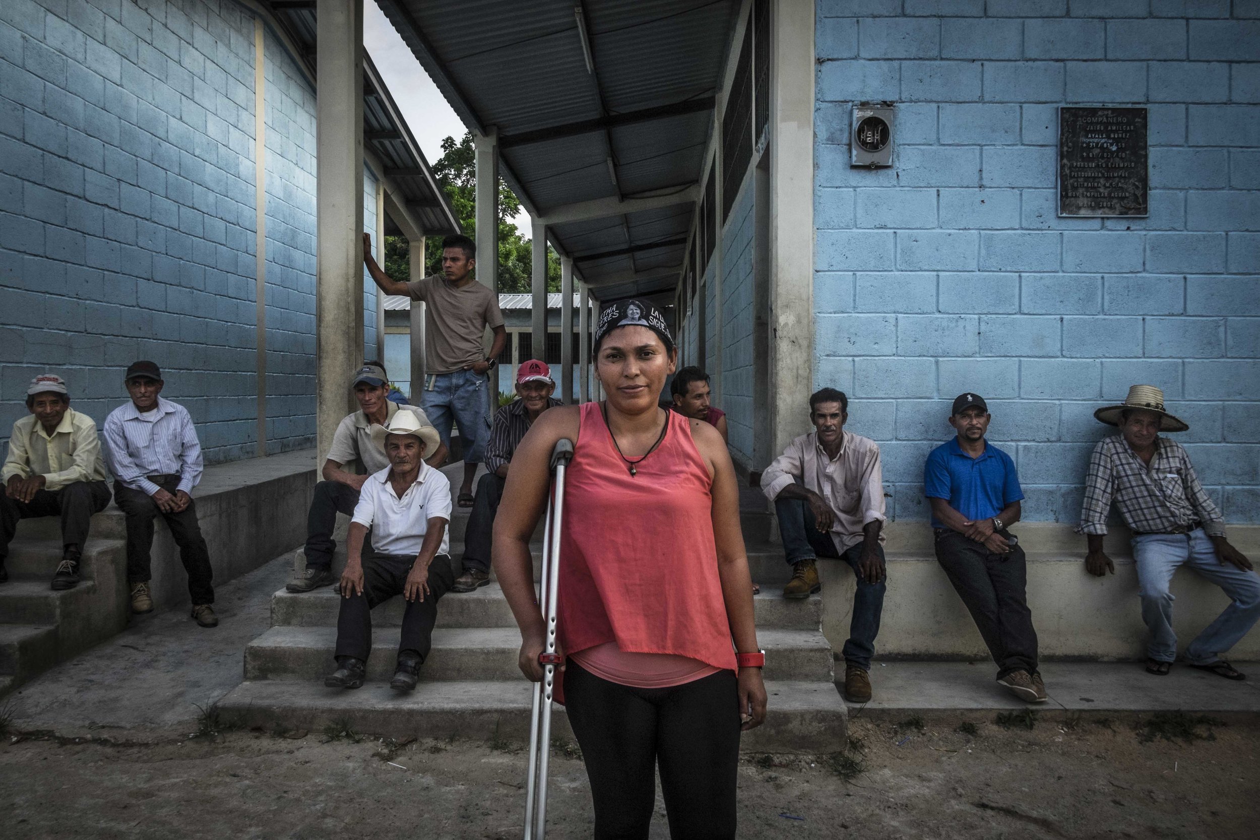
[[[998,664],[998,683],[1022,700],[1042,703],[1024,553],[1007,530],[1019,520],[1023,491],[1011,456],[984,440],[990,419],[983,397],[959,394],[949,417],[958,434],[927,456],[924,494],[932,508],[936,562]]]

